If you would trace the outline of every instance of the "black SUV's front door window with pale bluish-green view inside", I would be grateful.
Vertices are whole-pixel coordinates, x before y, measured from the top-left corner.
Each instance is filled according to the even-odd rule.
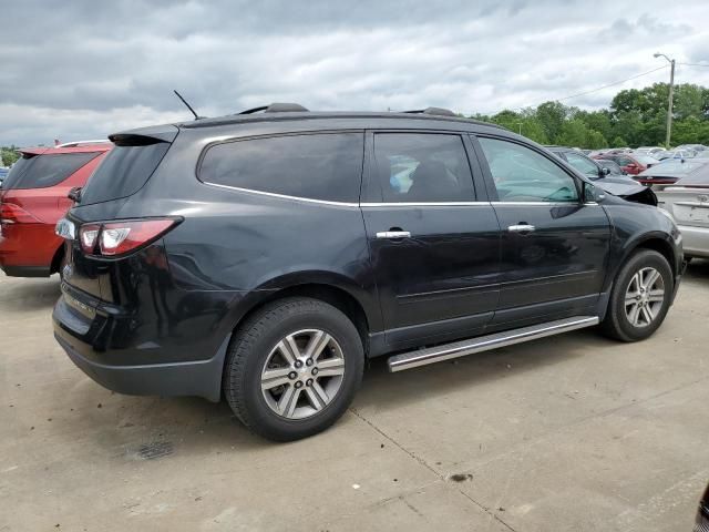
[[[514,142],[479,137],[501,202],[577,202],[574,178]]]

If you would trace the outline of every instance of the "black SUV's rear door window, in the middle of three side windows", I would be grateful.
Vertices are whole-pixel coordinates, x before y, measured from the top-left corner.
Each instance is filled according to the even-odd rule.
[[[474,200],[473,176],[460,135],[378,133],[374,158],[384,202]]]

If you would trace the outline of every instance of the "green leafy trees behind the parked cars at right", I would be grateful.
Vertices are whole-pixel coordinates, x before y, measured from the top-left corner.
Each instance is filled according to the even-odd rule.
[[[618,92],[607,110],[584,111],[545,102],[536,109],[505,110],[494,116],[474,117],[522,132],[540,144],[589,150],[659,146],[665,144],[668,95],[667,83],[655,83]],[[709,145],[709,89],[689,83],[677,85],[671,144],[697,143]]]

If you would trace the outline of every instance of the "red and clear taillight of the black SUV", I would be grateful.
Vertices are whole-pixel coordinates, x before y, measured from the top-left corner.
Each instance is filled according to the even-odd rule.
[[[86,224],[79,229],[79,242],[84,253],[91,255],[123,255],[164,235],[177,222],[174,218],[153,218]]]

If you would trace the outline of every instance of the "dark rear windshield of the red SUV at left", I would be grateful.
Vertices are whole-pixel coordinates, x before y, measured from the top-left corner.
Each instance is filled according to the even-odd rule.
[[[23,154],[2,183],[3,190],[45,188],[54,186],[102,152]]]

